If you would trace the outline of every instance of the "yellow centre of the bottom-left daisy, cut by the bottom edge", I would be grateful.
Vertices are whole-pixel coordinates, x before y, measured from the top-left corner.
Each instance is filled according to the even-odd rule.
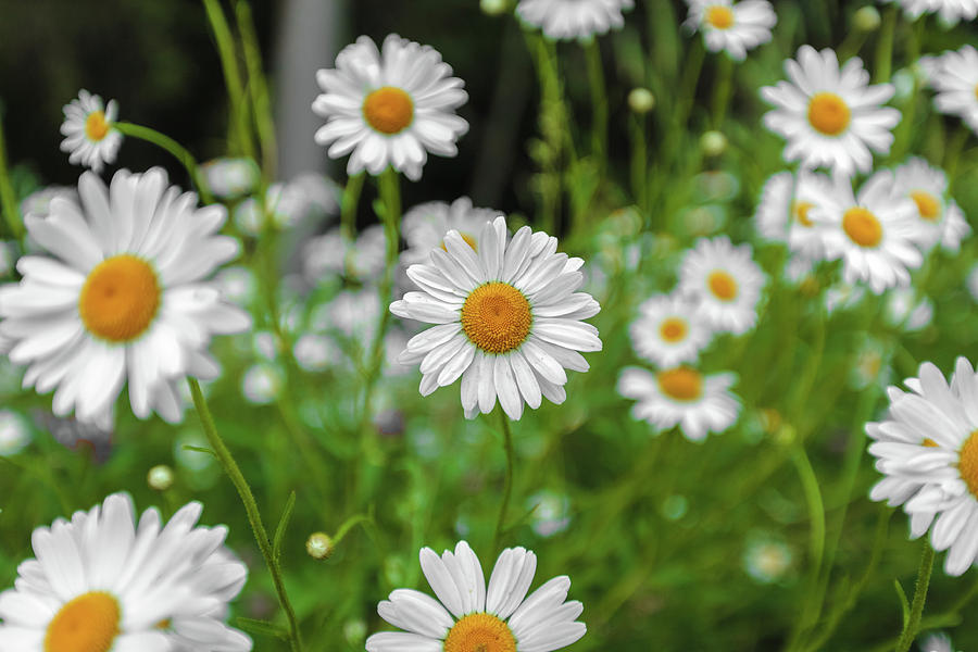
[[[45,652],[109,652],[118,636],[118,602],[102,591],[79,595],[48,625]]]

